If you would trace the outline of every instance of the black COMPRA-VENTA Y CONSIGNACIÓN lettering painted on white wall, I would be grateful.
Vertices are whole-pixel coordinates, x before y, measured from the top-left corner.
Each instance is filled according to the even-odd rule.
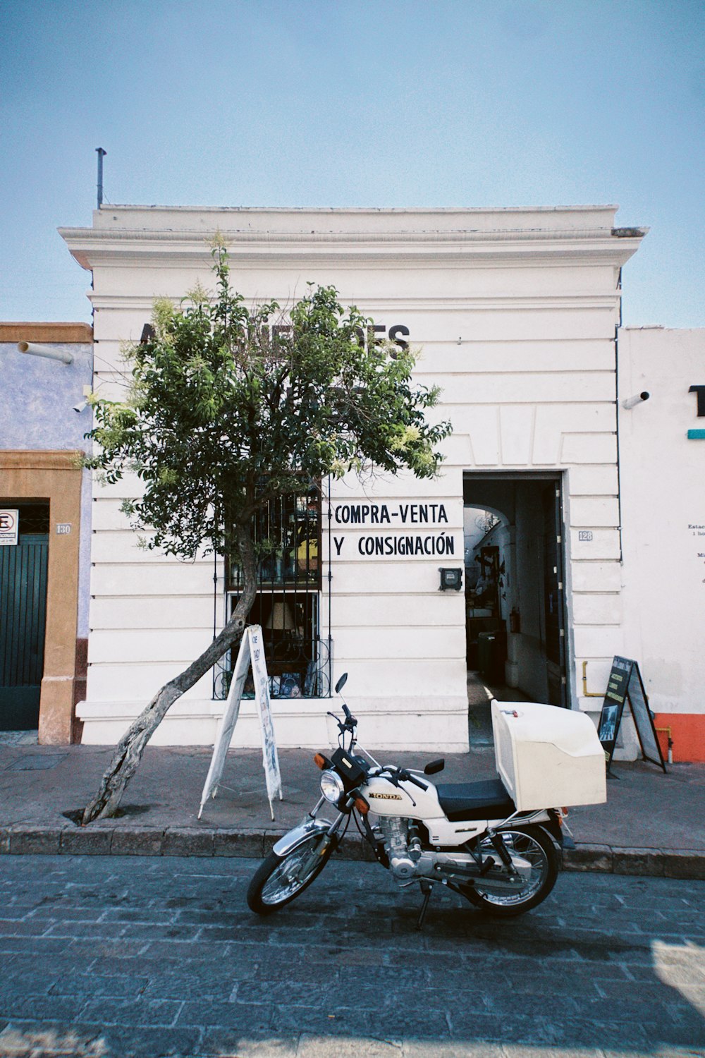
[[[333,554],[339,559],[454,555],[454,536],[443,528],[447,525],[445,504],[335,504],[331,508]],[[347,533],[347,528],[363,531]]]

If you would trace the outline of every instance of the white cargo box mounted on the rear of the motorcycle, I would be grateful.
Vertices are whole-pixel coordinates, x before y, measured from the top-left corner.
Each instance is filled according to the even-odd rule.
[[[491,704],[497,771],[520,811],[607,801],[605,752],[585,713]]]

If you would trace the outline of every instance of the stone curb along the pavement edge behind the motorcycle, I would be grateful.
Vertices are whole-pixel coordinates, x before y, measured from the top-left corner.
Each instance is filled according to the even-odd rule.
[[[0,855],[10,856],[265,856],[280,831],[228,831],[196,826],[161,829],[150,826],[0,827]],[[358,835],[347,836],[338,850],[346,860],[374,859]],[[705,879],[705,851],[698,849],[627,849],[577,844],[562,853],[563,871]]]

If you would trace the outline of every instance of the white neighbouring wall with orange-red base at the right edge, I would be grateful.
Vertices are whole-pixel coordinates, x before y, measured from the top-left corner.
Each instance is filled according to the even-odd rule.
[[[625,652],[664,748],[703,762],[705,330],[620,331],[618,415]]]

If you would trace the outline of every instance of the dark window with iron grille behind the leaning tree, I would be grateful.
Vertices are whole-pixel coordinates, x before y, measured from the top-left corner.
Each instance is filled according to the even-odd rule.
[[[258,591],[247,624],[262,627],[270,694],[273,698],[328,697],[331,693],[330,639],[321,639],[320,491],[278,496],[255,518]],[[242,585],[237,562],[226,570],[227,616]],[[330,584],[327,585],[330,594]],[[227,696],[236,653],[215,674],[214,697]],[[254,697],[252,682],[244,697]]]

